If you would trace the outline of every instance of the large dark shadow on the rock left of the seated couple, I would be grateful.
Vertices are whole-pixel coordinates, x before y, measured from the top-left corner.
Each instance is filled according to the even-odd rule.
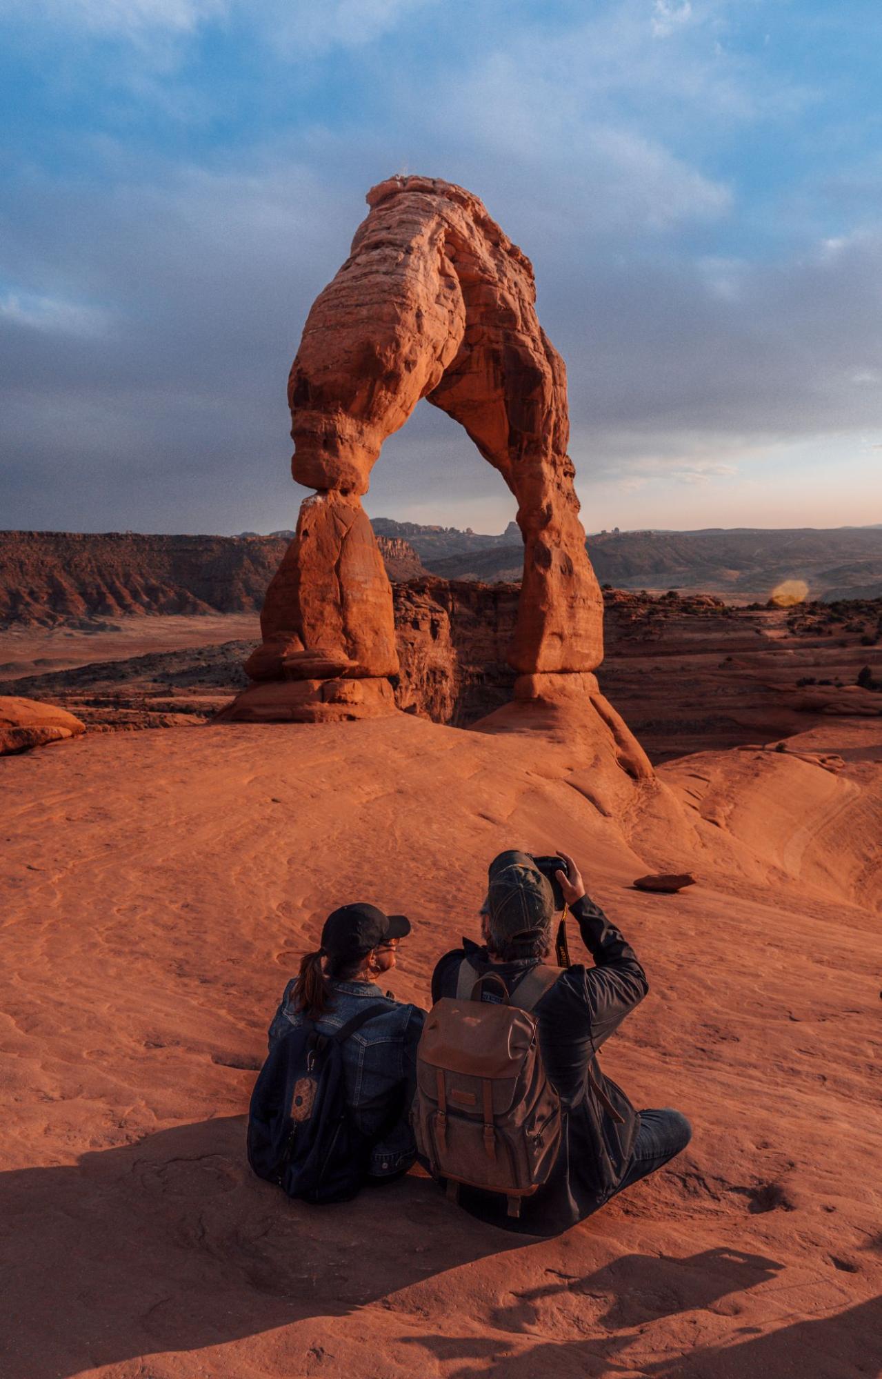
[[[0,1373],[63,1379],[342,1316],[531,1242],[415,1176],[335,1207],[289,1201],[251,1174],[244,1117],[181,1125],[0,1174]]]

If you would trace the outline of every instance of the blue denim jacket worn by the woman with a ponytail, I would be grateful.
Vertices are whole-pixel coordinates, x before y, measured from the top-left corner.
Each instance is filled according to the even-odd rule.
[[[373,982],[331,982],[331,986],[334,1003],[316,1022],[321,1034],[334,1034],[365,1004],[386,1007],[382,1015],[369,1019],[343,1044],[343,1073],[346,1100],[365,1135],[376,1135],[400,1107],[397,1121],[371,1153],[369,1176],[391,1178],[408,1169],[416,1158],[409,1111],[416,1089],[416,1045],[426,1011],[383,996]],[[292,979],[270,1025],[270,1048],[302,1020],[303,1015],[294,1005]]]

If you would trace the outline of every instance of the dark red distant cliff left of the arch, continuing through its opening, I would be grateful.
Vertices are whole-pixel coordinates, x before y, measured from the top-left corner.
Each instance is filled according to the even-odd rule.
[[[400,538],[379,538],[389,578],[424,574]],[[0,626],[131,614],[259,610],[288,536],[0,532]]]

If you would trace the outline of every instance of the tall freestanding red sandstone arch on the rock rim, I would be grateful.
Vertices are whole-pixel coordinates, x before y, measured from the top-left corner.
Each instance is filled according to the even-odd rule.
[[[317,494],[267,592],[265,648],[247,666],[260,683],[230,718],[390,706],[391,592],[360,499],[383,441],[422,397],[464,426],[518,499],[524,581],[509,663],[526,677],[580,676],[602,659],[602,601],[566,454],[566,374],[536,317],[529,259],[448,182],[393,178],[368,204],[291,370],[292,473]],[[328,698],[327,680],[360,688]]]

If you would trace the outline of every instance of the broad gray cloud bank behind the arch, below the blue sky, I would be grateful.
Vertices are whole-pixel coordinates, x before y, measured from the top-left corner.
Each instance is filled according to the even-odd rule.
[[[360,12],[369,28],[407,8]],[[90,175],[29,168],[10,186],[0,266],[0,523],[291,525],[288,367],[364,190],[401,168],[471,186],[533,259],[583,481],[700,490],[766,441],[878,433],[882,232],[854,212],[861,229],[806,232],[775,256],[717,250],[737,186],[673,152],[671,92],[711,124],[750,123],[775,97],[699,52],[707,11],[686,10],[624,4],[566,37],[500,40],[420,90],[393,80],[368,128],[201,165],[103,138]],[[208,11],[165,12],[183,25]],[[624,119],[624,72],[667,113]],[[369,507],[431,509],[453,488],[463,513],[509,510],[464,433],[420,405],[387,443]]]

